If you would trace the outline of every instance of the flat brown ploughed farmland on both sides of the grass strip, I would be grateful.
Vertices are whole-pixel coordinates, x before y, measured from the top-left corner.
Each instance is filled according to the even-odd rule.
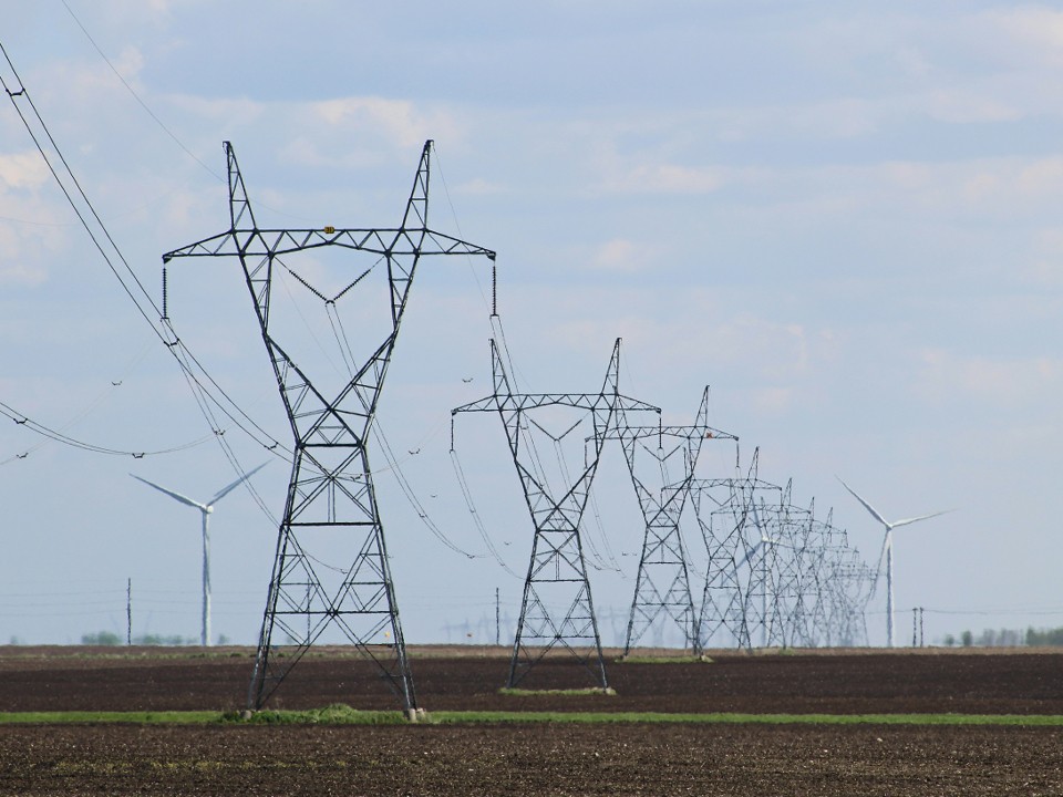
[[[711,653],[612,663],[606,695],[499,694],[503,651],[413,649],[432,712],[1063,715],[1063,654]],[[246,649],[0,649],[0,712],[225,711]],[[589,685],[546,660],[522,686]],[[375,673],[314,651],[276,708],[391,710]],[[619,722],[0,724],[0,794],[1063,795],[1063,727]]]

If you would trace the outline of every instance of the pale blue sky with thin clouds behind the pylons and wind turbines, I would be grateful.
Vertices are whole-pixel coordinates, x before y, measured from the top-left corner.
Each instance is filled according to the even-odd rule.
[[[914,607],[927,642],[1063,625],[1063,10],[0,7],[22,85],[156,301],[162,255],[228,226],[223,142],[261,226],[342,228],[398,225],[434,139],[431,224],[498,252],[522,390],[597,392],[621,338],[623,393],[684,424],[710,385],[709,423],[740,437],[743,467],[758,448],[760,477],[793,479],[817,516],[833,507],[869,565],[881,528],[836,477],[888,519],[954,510],[896,532],[900,640]],[[134,635],[198,638],[198,513],[130,474],[204,499],[238,472],[3,100],[0,402],[96,446],[178,451],[92,453],[0,418],[0,642],[124,636],[127,584]],[[167,276],[183,342],[289,442],[238,262],[175,261]],[[298,304],[299,286],[285,290]],[[383,392],[401,473],[473,555],[425,527],[378,457],[410,642],[493,642],[496,589],[504,641],[519,611],[508,570],[527,568],[532,526],[497,417],[461,416],[455,448],[508,570],[485,555],[448,456],[451,408],[491,392],[489,297],[482,260],[422,266]],[[374,318],[355,313],[348,332],[371,340]],[[289,321],[314,356],[311,327]],[[225,432],[241,467],[271,462],[254,479],[265,508],[236,490],[211,518],[216,635],[254,643],[288,466]],[[733,446],[714,443],[699,475],[733,475]],[[642,534],[616,447],[595,496],[605,525],[588,534],[620,565],[590,575],[613,644]],[[696,570],[689,518],[684,535]],[[871,644],[884,611],[879,590]]]

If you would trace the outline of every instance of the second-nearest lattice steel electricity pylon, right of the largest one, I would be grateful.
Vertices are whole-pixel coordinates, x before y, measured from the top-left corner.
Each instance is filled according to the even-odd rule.
[[[597,394],[515,393],[494,340],[491,341],[491,359],[494,394],[453,410],[452,417],[462,412],[498,413],[535,527],[507,684],[516,686],[547,653],[560,646],[575,656],[602,689],[607,689],[609,682],[587,578],[579,534],[580,520],[616,412],[648,411],[659,415],[661,411],[620,395],[620,339],[613,345],[605,382]],[[582,469],[574,479],[561,463],[559,477],[563,483],[559,486],[555,483],[554,488],[548,484],[543,463],[538,460],[533,438],[535,429],[546,432],[546,422],[537,421],[533,413],[548,407],[580,411],[576,423],[568,425],[566,421],[566,431],[561,434],[547,433],[555,444],[568,437],[588,418],[591,426],[590,434],[576,438],[589,442]]]

